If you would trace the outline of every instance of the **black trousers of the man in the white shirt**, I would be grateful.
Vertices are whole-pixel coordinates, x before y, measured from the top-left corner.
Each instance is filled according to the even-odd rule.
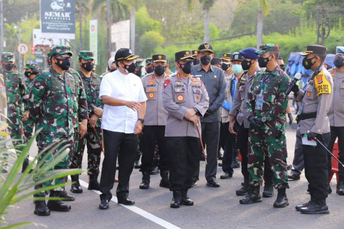
[[[138,136],[110,130],[104,133],[104,161],[100,177],[100,200],[112,198],[111,189],[114,187],[117,156],[119,162],[117,199],[126,198],[129,194],[129,179],[134,168]]]

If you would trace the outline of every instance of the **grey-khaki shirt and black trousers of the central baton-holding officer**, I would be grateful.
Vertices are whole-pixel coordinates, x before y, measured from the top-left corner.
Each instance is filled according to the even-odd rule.
[[[165,137],[170,157],[170,190],[182,190],[192,185],[201,149],[197,128],[184,115],[187,109],[196,108],[198,115],[203,116],[209,106],[209,97],[199,78],[184,79],[177,73],[165,80],[161,98],[168,111]]]

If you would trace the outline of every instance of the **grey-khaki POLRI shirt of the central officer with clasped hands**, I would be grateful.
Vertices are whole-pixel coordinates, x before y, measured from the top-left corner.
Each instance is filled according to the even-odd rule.
[[[168,111],[165,137],[198,138],[196,126],[184,115],[189,108],[196,108],[202,116],[207,111],[209,96],[203,82],[193,76],[184,79],[177,73],[165,80],[161,98]],[[198,126],[201,128],[201,123]]]

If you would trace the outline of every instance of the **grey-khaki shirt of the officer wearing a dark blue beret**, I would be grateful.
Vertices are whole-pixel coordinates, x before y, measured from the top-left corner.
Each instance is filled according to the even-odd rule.
[[[230,108],[229,114],[235,116],[237,110],[240,109],[240,112],[237,115],[236,119],[239,125],[242,125],[244,123],[244,128],[248,128],[249,124],[247,120],[246,106],[247,94],[251,88],[252,79],[259,71],[260,68],[257,67],[251,77],[248,75],[248,72],[246,72],[245,75],[239,79],[237,87],[235,88],[233,106],[232,108]]]

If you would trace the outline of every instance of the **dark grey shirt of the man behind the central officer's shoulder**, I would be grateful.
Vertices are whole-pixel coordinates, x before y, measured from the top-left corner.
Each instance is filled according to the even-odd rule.
[[[209,96],[209,108],[212,113],[205,118],[200,118],[203,123],[221,121],[219,108],[225,100],[225,78],[221,68],[210,66],[206,72],[200,64],[195,65],[191,72],[192,76],[199,78],[204,83]]]

